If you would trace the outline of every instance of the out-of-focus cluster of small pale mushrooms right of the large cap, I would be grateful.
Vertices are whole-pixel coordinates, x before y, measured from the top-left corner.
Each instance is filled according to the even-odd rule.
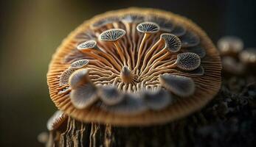
[[[243,48],[243,40],[235,36],[225,36],[218,40],[224,72],[243,76],[255,72],[256,49]]]

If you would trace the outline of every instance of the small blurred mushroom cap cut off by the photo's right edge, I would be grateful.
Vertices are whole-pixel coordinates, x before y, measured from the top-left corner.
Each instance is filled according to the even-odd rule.
[[[256,49],[246,49],[241,51],[239,59],[245,64],[256,65]]]

